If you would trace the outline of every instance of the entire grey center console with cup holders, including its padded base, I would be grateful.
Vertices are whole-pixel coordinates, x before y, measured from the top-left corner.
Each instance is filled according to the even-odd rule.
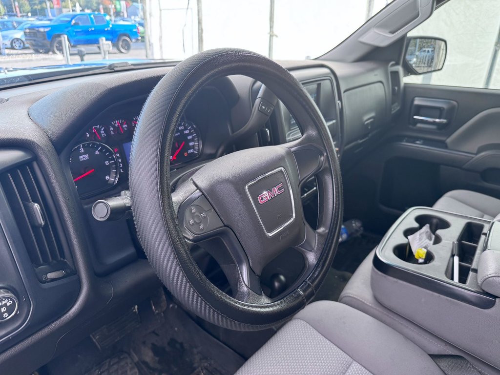
[[[407,237],[426,224],[434,241],[418,262]],[[456,281],[453,242],[459,250]],[[387,316],[431,332],[442,339],[443,350],[451,343],[472,359],[500,368],[500,221],[410,208],[378,245],[369,283],[379,311],[390,310],[395,315]]]

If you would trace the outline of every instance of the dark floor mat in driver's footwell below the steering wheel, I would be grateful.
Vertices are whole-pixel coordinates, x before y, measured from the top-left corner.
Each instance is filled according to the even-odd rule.
[[[90,337],[39,369],[40,375],[230,375],[244,359],[204,331],[170,297],[155,314],[149,300],[135,309],[140,324],[108,346]],[[122,372],[116,372],[121,370]],[[127,372],[128,371],[128,372]]]

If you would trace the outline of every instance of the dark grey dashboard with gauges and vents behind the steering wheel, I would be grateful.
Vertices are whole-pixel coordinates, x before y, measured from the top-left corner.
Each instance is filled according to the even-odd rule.
[[[363,147],[390,123],[390,66],[282,64],[323,114],[342,168],[355,164]],[[0,286],[14,292],[21,312],[0,324],[0,362],[7,368],[32,371],[99,328],[105,317],[112,320],[161,287],[141,251],[133,219],[97,221],[91,206],[128,189],[138,116],[170,69],[73,77],[1,92],[2,117],[9,120],[0,121]],[[216,157],[221,143],[245,125],[259,88],[243,76],[203,88],[187,106],[164,162],[180,173]],[[298,125],[293,108],[278,102],[264,127],[232,149],[285,143],[300,136]],[[48,223],[44,229],[26,221],[36,216],[13,214],[24,204],[14,202],[19,186],[36,187]],[[31,227],[35,235],[26,232]],[[47,246],[47,238],[53,246]]]

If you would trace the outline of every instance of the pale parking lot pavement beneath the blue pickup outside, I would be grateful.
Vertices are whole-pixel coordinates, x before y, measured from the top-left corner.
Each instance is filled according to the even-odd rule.
[[[97,46],[82,47],[86,51],[85,61],[101,60]],[[77,48],[70,50],[71,62],[80,62],[77,53]],[[108,59],[113,58],[146,58],[146,50],[144,42],[135,42],[132,44],[132,49],[128,53],[119,53],[116,48],[109,52]],[[44,65],[59,65],[63,64],[64,58],[60,54],[54,53],[34,53],[31,49],[25,48],[20,51],[6,49],[4,56],[0,55],[0,67],[32,67]]]

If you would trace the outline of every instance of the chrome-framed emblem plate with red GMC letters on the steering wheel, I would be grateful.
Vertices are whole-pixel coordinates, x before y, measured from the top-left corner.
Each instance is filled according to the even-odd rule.
[[[245,186],[253,209],[270,237],[295,219],[295,204],[290,181],[284,168],[271,170]]]

